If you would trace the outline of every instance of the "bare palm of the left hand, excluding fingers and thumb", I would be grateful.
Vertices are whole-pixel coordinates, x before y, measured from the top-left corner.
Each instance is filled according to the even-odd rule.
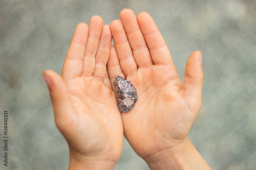
[[[74,108],[79,116],[67,128],[67,138],[74,150],[80,152],[83,145],[88,144],[88,152],[104,152],[115,150],[116,138],[122,137],[122,122],[116,106],[117,100],[112,89],[93,77],[77,77],[68,83]],[[117,120],[110,127],[111,120]],[[76,132],[76,133],[72,133]],[[116,135],[116,136],[114,136]],[[74,145],[72,145],[74,144]],[[120,148],[119,148],[120,150]]]

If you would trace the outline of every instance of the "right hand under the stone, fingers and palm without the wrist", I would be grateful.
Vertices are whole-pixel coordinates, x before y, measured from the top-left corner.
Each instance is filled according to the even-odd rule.
[[[177,97],[193,84],[201,65],[199,57],[194,61],[191,55],[183,85],[152,18],[145,12],[136,18],[130,9],[123,10],[120,18],[110,25],[116,49],[112,53],[116,54],[110,56],[108,70],[111,82],[121,75],[137,90],[134,108],[121,115],[126,139],[144,158],[187,139],[200,109],[200,83],[184,97]],[[116,29],[120,24],[123,27]]]

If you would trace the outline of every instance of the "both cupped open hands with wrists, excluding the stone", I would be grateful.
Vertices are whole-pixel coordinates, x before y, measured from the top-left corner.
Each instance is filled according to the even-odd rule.
[[[123,134],[150,168],[210,169],[188,138],[201,107],[201,52],[189,56],[182,84],[151,16],[124,9],[120,18],[110,26],[99,16],[89,27],[79,23],[61,76],[43,73],[56,125],[69,145],[69,170],[114,169]],[[116,75],[130,80],[138,94],[134,108],[121,114]]]

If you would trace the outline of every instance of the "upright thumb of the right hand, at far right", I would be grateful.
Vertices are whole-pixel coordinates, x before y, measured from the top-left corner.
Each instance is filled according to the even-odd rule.
[[[202,71],[202,54],[201,51],[194,51],[188,58],[183,90],[186,103],[191,111],[198,113],[202,104],[202,85],[203,85],[203,71]]]

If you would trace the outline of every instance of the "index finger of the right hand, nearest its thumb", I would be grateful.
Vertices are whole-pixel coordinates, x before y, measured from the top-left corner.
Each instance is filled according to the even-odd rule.
[[[154,64],[173,63],[169,49],[151,16],[147,12],[141,12],[137,15],[137,20]]]

